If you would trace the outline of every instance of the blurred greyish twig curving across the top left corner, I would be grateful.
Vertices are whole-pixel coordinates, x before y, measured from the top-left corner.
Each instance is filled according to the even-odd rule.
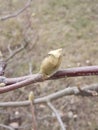
[[[32,0],[28,0],[28,2],[26,3],[25,7],[23,7],[19,11],[15,12],[14,14],[9,14],[9,15],[1,17],[0,20],[3,21],[3,20],[14,18],[14,17],[18,16],[19,14],[21,14],[22,12],[24,12],[30,6],[31,1]]]

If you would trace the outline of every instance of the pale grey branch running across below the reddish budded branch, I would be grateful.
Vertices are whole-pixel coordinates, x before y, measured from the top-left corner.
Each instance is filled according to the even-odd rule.
[[[90,86],[84,86],[82,87],[82,90],[91,90],[91,91],[96,91],[98,92],[98,84],[92,84]],[[81,91],[79,91],[78,87],[68,87],[63,90],[60,90],[58,92],[52,93],[48,96],[41,97],[34,99],[34,104],[40,104],[40,103],[46,103],[48,101],[56,100],[58,98],[61,98],[63,96],[70,96],[70,95],[76,95],[76,96],[84,96]],[[88,94],[85,95],[88,97]],[[93,96],[93,95],[91,95]],[[30,101],[18,101],[18,102],[0,102],[0,107],[25,107],[30,105]]]

